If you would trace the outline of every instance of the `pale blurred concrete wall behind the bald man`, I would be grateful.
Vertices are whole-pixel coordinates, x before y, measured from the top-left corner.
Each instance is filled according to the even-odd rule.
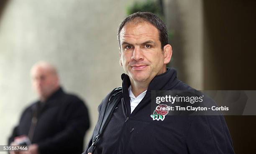
[[[87,102],[91,135],[98,104],[121,85],[116,32],[132,2],[8,1],[0,16],[0,145],[36,99],[29,71],[38,60],[56,65],[64,89]]]

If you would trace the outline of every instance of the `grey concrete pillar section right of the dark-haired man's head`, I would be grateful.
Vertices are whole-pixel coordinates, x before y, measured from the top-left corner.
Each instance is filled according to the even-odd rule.
[[[170,66],[178,79],[195,89],[203,89],[202,0],[164,0],[166,24],[172,38]]]

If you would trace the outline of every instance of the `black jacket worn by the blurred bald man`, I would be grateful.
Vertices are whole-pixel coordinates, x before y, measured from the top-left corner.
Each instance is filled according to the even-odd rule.
[[[90,127],[89,115],[84,102],[77,96],[59,88],[46,102],[33,103],[23,112],[14,128],[14,137],[27,135],[32,115],[37,111],[32,144],[36,143],[40,154],[81,154],[86,130]]]

